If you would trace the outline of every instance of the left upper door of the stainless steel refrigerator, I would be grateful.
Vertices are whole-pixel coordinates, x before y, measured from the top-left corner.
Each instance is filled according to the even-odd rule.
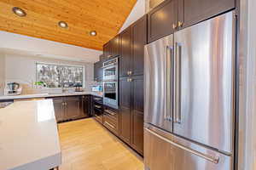
[[[173,35],[145,46],[144,120],[170,132],[172,132],[173,54]]]

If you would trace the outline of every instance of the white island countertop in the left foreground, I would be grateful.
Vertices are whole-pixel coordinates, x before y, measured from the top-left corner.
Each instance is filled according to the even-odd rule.
[[[61,147],[51,99],[0,109],[1,170],[49,170],[59,165]]]

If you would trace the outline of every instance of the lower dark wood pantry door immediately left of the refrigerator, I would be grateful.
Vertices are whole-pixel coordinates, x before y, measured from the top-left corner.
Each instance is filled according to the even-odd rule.
[[[144,91],[143,76],[131,78],[131,146],[143,155]]]

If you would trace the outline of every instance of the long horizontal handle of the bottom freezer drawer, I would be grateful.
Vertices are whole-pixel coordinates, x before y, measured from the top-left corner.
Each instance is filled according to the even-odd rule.
[[[169,144],[172,144],[172,145],[174,145],[174,146],[176,146],[176,147],[178,147],[178,148],[180,148],[182,150],[186,150],[186,151],[190,152],[191,154],[194,154],[195,156],[200,156],[201,158],[203,158],[203,159],[205,159],[207,161],[212,161],[213,163],[218,164],[218,161],[219,161],[218,157],[207,156],[206,154],[203,154],[203,153],[201,153],[199,151],[191,150],[191,149],[183,146],[182,144],[177,144],[175,142],[172,142],[172,140],[169,140],[169,139],[166,139],[166,138],[160,136],[158,133],[154,133],[152,130],[150,130],[148,128],[145,128],[145,129],[148,131],[148,133],[152,133],[154,136],[156,136],[156,137],[166,141]]]

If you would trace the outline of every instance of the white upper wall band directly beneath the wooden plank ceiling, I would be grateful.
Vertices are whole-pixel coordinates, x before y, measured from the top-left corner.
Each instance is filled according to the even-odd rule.
[[[52,42],[36,37],[27,37],[7,31],[0,31],[0,48],[20,50],[30,54],[42,54],[50,57],[65,57],[83,62],[96,62],[102,51],[81,48],[61,42]]]

